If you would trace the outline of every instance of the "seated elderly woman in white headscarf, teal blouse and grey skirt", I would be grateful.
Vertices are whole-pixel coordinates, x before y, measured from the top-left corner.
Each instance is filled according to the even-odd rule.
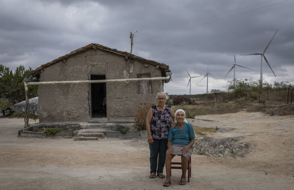
[[[182,176],[180,185],[186,184],[186,171],[188,160],[193,153],[193,144],[195,143],[195,134],[191,124],[185,119],[186,113],[182,109],[178,109],[175,113],[177,125],[170,128],[168,134],[168,143],[166,151],[166,182],[163,186],[171,185],[171,160],[176,155],[181,155],[182,161]]]

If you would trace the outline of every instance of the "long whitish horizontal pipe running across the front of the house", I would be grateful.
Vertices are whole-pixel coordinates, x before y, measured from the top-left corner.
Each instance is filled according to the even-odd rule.
[[[28,85],[40,84],[71,84],[71,83],[103,83],[103,82],[126,82],[126,81],[155,81],[155,80],[169,80],[170,75],[166,77],[151,77],[151,78],[137,78],[137,79],[107,79],[107,80],[88,80],[88,81],[48,81],[48,82],[28,82]]]

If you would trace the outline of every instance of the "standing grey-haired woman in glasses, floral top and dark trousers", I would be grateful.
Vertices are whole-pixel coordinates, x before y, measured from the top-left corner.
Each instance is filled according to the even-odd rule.
[[[171,127],[171,118],[176,121],[173,109],[165,105],[167,94],[157,94],[157,105],[149,109],[146,119],[146,130],[150,149],[150,178],[165,178],[163,167],[166,160],[167,138]],[[158,161],[157,161],[158,160]]]

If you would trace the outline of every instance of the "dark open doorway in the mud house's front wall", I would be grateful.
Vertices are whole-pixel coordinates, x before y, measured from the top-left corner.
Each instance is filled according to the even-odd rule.
[[[91,80],[105,80],[105,75],[91,75]],[[106,117],[106,83],[91,83],[92,118]]]

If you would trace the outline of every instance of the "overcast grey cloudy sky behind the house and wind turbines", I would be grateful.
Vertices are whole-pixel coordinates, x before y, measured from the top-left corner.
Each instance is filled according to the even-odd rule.
[[[205,76],[208,91],[225,90],[236,79],[294,84],[293,0],[0,0],[0,64],[14,70],[37,67],[91,43],[131,51],[129,32],[138,30],[133,54],[167,64],[169,94],[189,94],[189,76]],[[146,34],[147,33],[147,34]],[[206,92],[206,78],[192,79],[191,94]]]

